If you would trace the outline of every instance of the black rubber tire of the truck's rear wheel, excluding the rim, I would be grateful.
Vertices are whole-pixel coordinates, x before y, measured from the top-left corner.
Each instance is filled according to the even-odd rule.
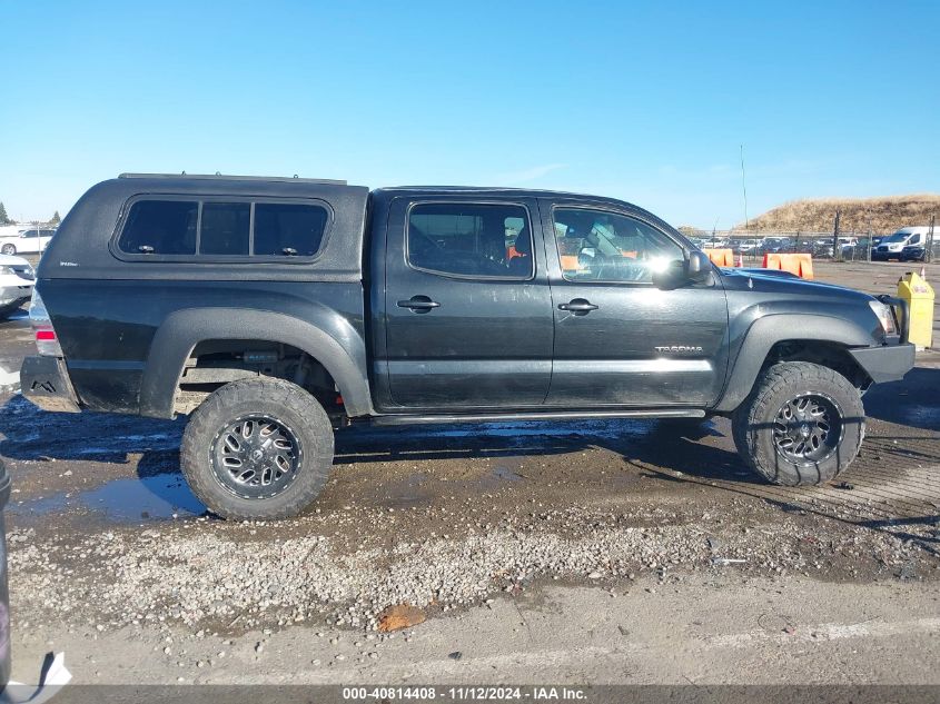
[[[246,498],[217,477],[219,433],[244,416],[263,415],[290,429],[300,448],[294,478],[278,494]],[[189,488],[214,514],[236,520],[273,520],[300,513],[320,493],[333,466],[333,426],[317,400],[281,379],[243,379],[216,389],[189,416],[180,465]]]

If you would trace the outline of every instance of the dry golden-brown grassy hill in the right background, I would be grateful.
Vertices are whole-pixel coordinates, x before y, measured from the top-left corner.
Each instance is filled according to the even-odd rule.
[[[835,210],[841,210],[839,230],[842,232],[893,232],[909,225],[930,225],[937,216],[940,229],[940,194],[888,196],[884,198],[820,198],[792,200],[756,218],[750,229],[763,232],[831,232]],[[735,229],[744,229],[739,222]]]

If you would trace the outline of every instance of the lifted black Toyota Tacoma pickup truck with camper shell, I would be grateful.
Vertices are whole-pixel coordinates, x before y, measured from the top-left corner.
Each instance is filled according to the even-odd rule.
[[[36,289],[23,394],[190,414],[182,472],[231,518],[301,510],[359,420],[726,415],[763,477],[817,484],[859,450],[861,394],[914,359],[900,300],[719,269],[564,192],[125,175],[75,206]]]

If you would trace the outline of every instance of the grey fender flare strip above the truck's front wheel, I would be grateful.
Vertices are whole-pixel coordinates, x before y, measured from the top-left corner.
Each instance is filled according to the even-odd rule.
[[[768,353],[784,340],[835,343],[847,349],[878,344],[870,331],[845,318],[803,314],[773,314],[758,318],[744,334],[714,410],[738,408],[754,388]]]

